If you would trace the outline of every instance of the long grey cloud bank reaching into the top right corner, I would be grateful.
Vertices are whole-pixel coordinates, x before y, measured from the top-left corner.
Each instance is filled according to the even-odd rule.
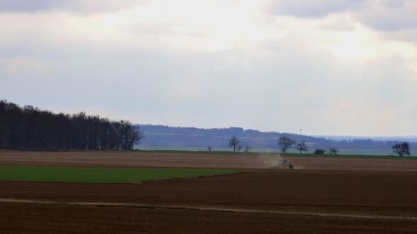
[[[300,18],[350,12],[364,25],[379,31],[417,28],[417,1],[414,0],[281,0],[270,3],[267,10]]]

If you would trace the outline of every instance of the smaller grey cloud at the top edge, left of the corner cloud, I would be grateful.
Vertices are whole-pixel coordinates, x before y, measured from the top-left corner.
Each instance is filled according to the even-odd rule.
[[[364,0],[279,0],[271,1],[267,11],[273,14],[296,16],[301,18],[316,18],[335,12],[344,12],[357,8]]]

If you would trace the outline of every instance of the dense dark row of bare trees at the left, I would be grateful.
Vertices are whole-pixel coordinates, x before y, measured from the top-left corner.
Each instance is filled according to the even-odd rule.
[[[54,114],[0,100],[0,148],[9,150],[130,150],[143,133],[128,121]]]

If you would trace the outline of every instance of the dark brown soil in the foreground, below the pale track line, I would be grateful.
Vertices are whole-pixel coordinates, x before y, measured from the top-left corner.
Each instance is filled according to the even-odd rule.
[[[409,220],[0,204],[1,233],[415,233]]]

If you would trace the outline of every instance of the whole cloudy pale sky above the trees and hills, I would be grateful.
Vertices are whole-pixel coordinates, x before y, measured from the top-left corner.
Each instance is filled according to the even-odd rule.
[[[1,0],[0,99],[133,123],[417,135],[414,0]]]

